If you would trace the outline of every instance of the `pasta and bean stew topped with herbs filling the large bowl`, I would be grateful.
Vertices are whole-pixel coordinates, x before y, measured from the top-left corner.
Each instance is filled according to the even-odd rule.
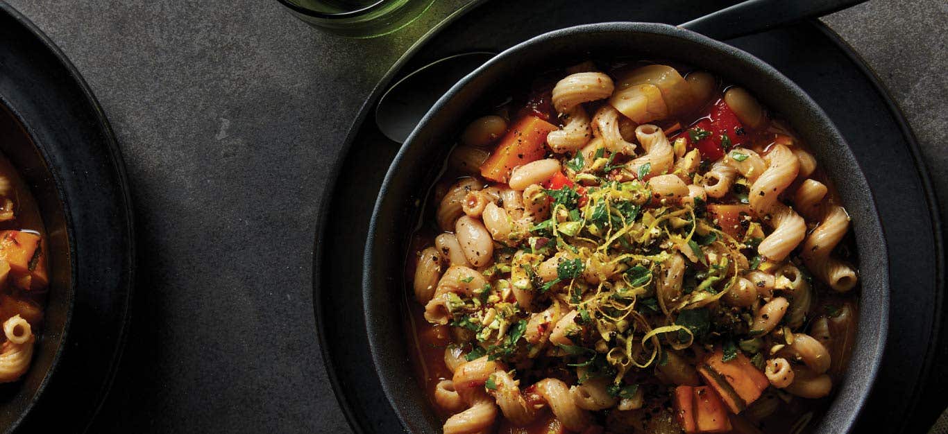
[[[682,71],[582,63],[465,129],[408,274],[446,433],[798,432],[825,403],[849,216],[750,92]]]

